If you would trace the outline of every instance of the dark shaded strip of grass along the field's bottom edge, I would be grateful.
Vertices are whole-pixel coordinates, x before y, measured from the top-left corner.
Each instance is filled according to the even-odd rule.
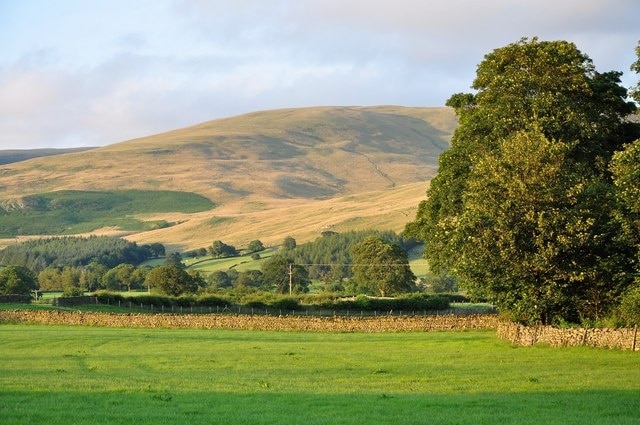
[[[11,424],[637,424],[638,391],[500,394],[0,391]]]

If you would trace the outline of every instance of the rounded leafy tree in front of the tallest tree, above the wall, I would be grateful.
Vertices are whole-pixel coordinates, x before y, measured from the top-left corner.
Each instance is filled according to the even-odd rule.
[[[470,174],[455,271],[519,321],[597,318],[630,283],[610,186],[571,148],[518,133]]]

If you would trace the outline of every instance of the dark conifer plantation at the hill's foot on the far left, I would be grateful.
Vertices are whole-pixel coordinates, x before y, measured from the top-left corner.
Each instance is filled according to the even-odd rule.
[[[140,264],[152,257],[148,246],[109,236],[35,239],[0,251],[0,263],[39,272],[48,266],[85,266],[97,261],[112,268],[121,263]]]

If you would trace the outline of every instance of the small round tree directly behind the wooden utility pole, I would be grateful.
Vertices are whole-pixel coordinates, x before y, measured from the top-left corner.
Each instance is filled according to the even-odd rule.
[[[304,266],[292,263],[290,258],[275,255],[262,264],[264,285],[280,294],[309,290],[309,272]]]

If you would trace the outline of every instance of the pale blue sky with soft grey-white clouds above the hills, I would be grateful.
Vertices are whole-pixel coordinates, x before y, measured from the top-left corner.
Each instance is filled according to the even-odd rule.
[[[637,0],[0,0],[0,149],[267,109],[444,106],[522,37],[574,42],[628,88],[639,23]]]

